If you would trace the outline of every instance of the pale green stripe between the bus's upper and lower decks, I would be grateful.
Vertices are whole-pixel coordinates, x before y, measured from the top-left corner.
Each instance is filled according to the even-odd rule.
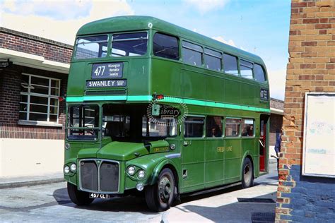
[[[66,97],[66,102],[92,102],[92,101],[129,101],[129,102],[151,102],[151,95],[110,95],[110,96],[83,96],[83,97]],[[270,113],[270,109],[264,109],[259,107],[249,107],[245,105],[237,104],[225,104],[221,102],[206,102],[203,100],[183,99],[179,97],[164,97],[160,102],[170,103],[184,103],[206,107],[218,107],[224,109],[237,109],[246,111],[262,111]]]

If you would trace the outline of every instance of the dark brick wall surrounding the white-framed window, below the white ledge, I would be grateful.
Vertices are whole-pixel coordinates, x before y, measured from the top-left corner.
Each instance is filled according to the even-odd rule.
[[[60,95],[66,94],[67,74],[13,65],[0,68],[0,138],[64,139],[65,102],[59,102],[63,127],[18,125],[22,73],[61,79]]]

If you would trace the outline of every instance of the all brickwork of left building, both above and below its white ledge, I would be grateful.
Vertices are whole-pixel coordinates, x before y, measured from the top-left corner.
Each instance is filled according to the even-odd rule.
[[[43,56],[50,61],[69,64],[72,46],[42,37],[0,27],[0,48]],[[22,73],[61,79],[66,93],[67,74],[12,65],[0,68],[0,138],[64,139],[65,102],[59,102],[59,123],[63,127],[18,125]]]

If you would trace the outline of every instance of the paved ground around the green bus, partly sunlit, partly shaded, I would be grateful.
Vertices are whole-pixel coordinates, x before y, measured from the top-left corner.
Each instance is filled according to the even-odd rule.
[[[66,183],[5,188],[0,190],[0,222],[251,222],[252,212],[274,212],[275,203],[240,203],[237,198],[276,200],[276,165],[271,174],[255,181],[252,188],[238,186],[182,198],[182,204],[166,212],[150,212],[143,198],[95,200],[76,207]]]

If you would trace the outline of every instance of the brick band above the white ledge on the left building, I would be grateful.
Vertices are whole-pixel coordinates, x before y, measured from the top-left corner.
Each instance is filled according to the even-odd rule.
[[[72,46],[0,27],[0,48],[44,56],[50,61],[70,63]]]

